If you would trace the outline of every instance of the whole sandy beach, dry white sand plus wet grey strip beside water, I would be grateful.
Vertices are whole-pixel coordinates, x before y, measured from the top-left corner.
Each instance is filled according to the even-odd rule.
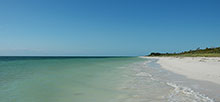
[[[161,68],[186,77],[187,86],[199,86],[199,92],[215,97],[219,102],[220,58],[219,57],[147,57],[157,59]],[[194,88],[196,89],[196,88]]]

